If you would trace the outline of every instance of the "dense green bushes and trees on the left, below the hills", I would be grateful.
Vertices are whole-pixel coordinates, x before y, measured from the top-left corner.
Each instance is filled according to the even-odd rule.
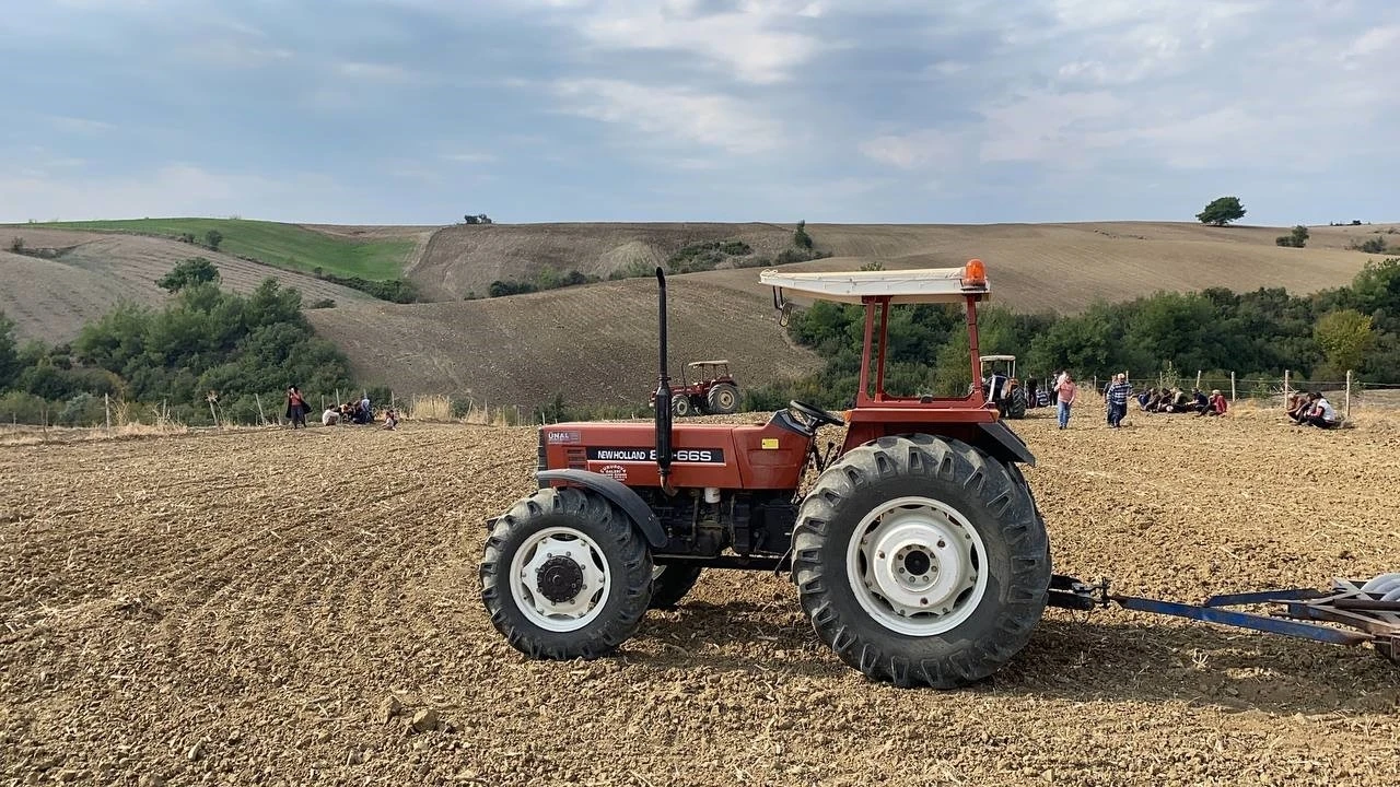
[[[347,358],[314,335],[297,290],[267,279],[248,295],[223,291],[217,267],[202,258],[158,283],[171,291],[162,308],[118,305],[71,343],[18,346],[14,323],[0,315],[0,410],[15,420],[70,412],[74,423],[92,423],[106,394],[168,402],[174,417],[203,423],[213,395],[225,415],[251,423],[256,395],[280,415],[280,396],[266,396],[288,385],[350,388]]]

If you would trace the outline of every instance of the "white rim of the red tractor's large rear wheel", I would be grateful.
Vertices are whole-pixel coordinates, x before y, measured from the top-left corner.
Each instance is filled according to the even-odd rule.
[[[987,549],[972,522],[928,497],[872,510],[846,550],[855,601],[876,623],[910,637],[962,625],[987,592],[986,567]]]

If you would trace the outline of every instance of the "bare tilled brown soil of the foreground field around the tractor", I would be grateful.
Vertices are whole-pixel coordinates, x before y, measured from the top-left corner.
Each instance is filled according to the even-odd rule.
[[[1400,422],[1016,423],[1056,567],[1120,592],[1400,567]],[[713,571],[620,654],[526,661],[477,597],[526,429],[405,424],[0,448],[0,774],[81,784],[1394,784],[1400,671],[1049,611],[959,692],[874,685],[794,588]],[[347,475],[356,480],[347,487]],[[400,709],[395,703],[402,704]],[[419,711],[438,728],[412,732]],[[426,724],[423,727],[427,727]]]

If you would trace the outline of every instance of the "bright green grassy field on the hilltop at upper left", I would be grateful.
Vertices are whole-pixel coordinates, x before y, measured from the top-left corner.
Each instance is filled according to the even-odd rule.
[[[11,224],[0,227],[0,234],[13,232],[22,237],[32,230],[139,232],[165,238],[178,238],[188,232],[199,244],[204,242],[206,232],[217,230],[223,234],[220,251],[234,256],[255,258],[266,265],[302,273],[321,267],[326,273],[339,276],[382,280],[402,276],[403,269],[434,228],[340,227],[336,231],[325,231],[300,224],[242,218],[129,218]],[[4,239],[8,242],[8,238]]]

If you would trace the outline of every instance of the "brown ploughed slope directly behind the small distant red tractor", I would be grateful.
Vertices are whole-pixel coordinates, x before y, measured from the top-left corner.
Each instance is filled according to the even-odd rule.
[[[756,272],[749,272],[757,277]],[[671,374],[729,358],[741,385],[820,368],[790,344],[766,288],[669,287]],[[477,405],[636,405],[657,386],[657,283],[605,281],[549,293],[441,304],[368,304],[307,312],[351,358],[357,379],[410,394],[469,395]]]

